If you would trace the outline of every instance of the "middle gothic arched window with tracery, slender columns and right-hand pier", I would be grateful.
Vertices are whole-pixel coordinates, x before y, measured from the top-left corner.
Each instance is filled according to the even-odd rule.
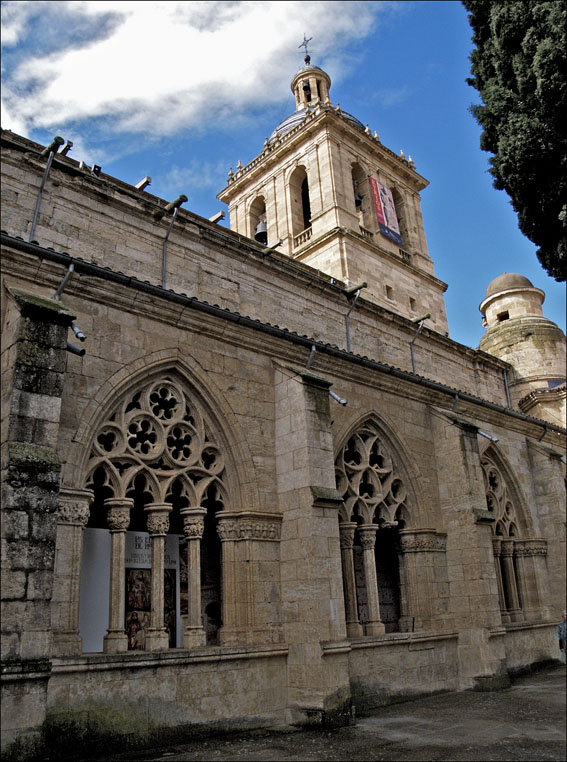
[[[423,602],[436,598],[437,582],[422,570],[436,566],[444,578],[445,535],[419,528],[416,477],[403,444],[375,412],[366,414],[341,439],[335,468],[348,634],[424,627],[434,615]]]

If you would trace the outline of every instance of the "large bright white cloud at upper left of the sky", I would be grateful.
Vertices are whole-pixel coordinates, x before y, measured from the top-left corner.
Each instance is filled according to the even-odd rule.
[[[84,2],[7,3],[8,39],[25,45],[25,14],[57,6],[55,18],[112,12],[103,39],[49,55],[22,56],[5,77],[6,109],[23,131],[104,117],[114,129],[174,134],[281,99],[301,63],[303,33],[313,63],[370,33],[379,2]],[[18,8],[14,8],[17,6]],[[47,7],[47,9],[46,9]],[[44,9],[44,10],[42,10]],[[96,26],[96,25],[94,25]],[[334,75],[338,74],[335,69]],[[5,127],[16,130],[5,123]]]

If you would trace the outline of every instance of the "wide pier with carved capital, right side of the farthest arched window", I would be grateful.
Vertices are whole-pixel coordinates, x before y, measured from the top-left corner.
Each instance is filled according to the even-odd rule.
[[[532,622],[546,619],[549,615],[546,555],[547,542],[545,540],[540,538],[514,540],[522,611],[524,619]]]

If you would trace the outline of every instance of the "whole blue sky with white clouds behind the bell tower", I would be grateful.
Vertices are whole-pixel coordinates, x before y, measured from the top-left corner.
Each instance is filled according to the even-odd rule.
[[[488,283],[519,272],[565,330],[565,285],[549,278],[492,187],[468,108],[471,29],[460,2],[2,2],[2,127],[209,217],[229,167],[262,150],[295,103],[289,83],[312,37],[334,104],[411,154],[450,334],[478,346]],[[228,217],[228,215],[227,215]]]

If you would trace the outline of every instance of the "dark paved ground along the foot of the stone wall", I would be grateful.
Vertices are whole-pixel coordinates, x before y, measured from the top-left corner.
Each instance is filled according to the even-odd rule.
[[[565,760],[565,667],[494,693],[442,694],[376,710],[337,730],[243,733],[149,752],[139,762],[228,760]]]

